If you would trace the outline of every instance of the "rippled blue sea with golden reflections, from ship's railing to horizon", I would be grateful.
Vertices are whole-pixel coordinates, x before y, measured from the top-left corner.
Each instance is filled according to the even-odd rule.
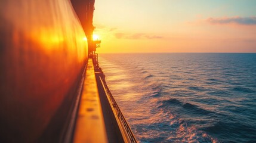
[[[256,54],[100,54],[140,142],[256,142]]]

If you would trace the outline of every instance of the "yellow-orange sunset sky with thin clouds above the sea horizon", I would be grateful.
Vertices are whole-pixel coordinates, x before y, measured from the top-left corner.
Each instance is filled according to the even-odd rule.
[[[96,0],[98,52],[256,52],[255,0]]]

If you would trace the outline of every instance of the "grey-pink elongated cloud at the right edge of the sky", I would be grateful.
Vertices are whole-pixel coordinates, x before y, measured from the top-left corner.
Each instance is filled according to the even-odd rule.
[[[208,18],[206,21],[211,24],[256,25],[256,17]]]

